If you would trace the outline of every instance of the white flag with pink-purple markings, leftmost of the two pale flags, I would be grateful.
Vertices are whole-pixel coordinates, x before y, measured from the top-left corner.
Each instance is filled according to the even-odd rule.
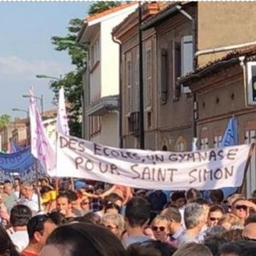
[[[29,90],[29,96],[31,153],[40,161],[46,172],[49,172],[54,170],[56,166],[55,150],[46,135],[39,110],[36,107],[32,88]]]

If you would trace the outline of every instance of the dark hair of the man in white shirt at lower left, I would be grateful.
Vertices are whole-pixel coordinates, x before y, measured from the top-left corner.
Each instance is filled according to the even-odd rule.
[[[27,226],[32,218],[32,210],[27,206],[13,206],[11,209],[10,222],[13,227]]]

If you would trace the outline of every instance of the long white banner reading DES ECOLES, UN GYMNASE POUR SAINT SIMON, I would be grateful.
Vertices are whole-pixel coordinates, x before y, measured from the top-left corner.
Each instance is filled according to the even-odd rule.
[[[251,145],[194,152],[106,147],[58,135],[56,177],[79,177],[145,189],[240,187]]]

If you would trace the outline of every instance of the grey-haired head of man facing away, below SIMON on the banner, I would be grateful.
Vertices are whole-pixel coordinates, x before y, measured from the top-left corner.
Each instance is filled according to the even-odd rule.
[[[203,206],[198,203],[189,203],[184,210],[184,223],[186,229],[198,229],[201,231],[205,224]]]

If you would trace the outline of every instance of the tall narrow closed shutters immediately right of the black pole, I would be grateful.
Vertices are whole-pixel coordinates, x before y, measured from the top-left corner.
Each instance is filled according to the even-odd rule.
[[[146,86],[145,86],[145,107],[151,106],[151,87],[152,87],[152,47],[151,41],[146,45],[146,60],[145,60],[145,74],[146,74]]]

